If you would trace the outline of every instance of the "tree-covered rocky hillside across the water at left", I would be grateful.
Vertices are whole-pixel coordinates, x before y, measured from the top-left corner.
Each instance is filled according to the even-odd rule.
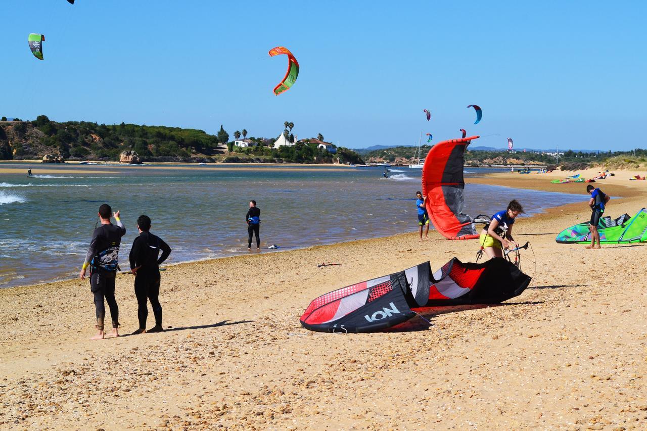
[[[294,142],[292,127],[293,123],[286,122],[290,142]],[[247,137],[247,130],[234,133],[236,139],[241,136]],[[216,135],[209,135],[197,129],[123,122],[54,122],[39,115],[33,121],[0,121],[0,160],[41,160],[49,155],[56,160],[117,161],[127,151],[142,162],[363,163],[352,150],[337,148],[331,153],[309,140],[280,148],[270,148],[276,138],[249,140],[253,142],[250,148],[234,146],[223,126]]]

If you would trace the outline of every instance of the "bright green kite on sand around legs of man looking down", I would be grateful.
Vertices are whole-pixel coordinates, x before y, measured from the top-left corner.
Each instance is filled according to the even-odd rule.
[[[642,208],[635,216],[623,214],[617,219],[602,217],[598,224],[600,243],[647,243],[647,210]],[[562,230],[555,238],[562,244],[590,243],[589,222]]]

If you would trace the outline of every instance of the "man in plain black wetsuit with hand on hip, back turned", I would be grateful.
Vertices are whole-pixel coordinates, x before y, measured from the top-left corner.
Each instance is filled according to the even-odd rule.
[[[160,294],[160,263],[171,254],[171,247],[162,241],[159,236],[149,232],[151,219],[148,216],[139,216],[137,219],[139,236],[133,241],[130,249],[130,272],[135,274],[135,296],[137,296],[137,317],[139,329],[133,335],[145,332],[162,332],[162,305],[159,302]],[[162,256],[159,252],[162,250]],[[159,256],[159,257],[158,257]],[[146,331],[146,318],[148,317],[148,304],[151,302],[155,326]]]

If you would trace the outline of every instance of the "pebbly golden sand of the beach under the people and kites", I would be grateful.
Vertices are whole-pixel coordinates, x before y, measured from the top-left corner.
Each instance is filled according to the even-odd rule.
[[[533,282],[521,296],[427,309],[431,327],[415,318],[402,331],[333,335],[298,318],[353,282],[474,261],[476,241],[432,231],[421,244],[412,231],[171,266],[160,294],[170,328],[98,342],[87,280],[0,290],[0,428],[646,429],[647,245],[555,243],[589,216],[586,184],[511,175],[473,181],[581,193],[582,204],[516,223],[537,262],[523,254]],[[631,175],[594,183],[612,196],[607,215],[647,206],[647,181]],[[131,275],[118,276],[117,300],[129,334]]]

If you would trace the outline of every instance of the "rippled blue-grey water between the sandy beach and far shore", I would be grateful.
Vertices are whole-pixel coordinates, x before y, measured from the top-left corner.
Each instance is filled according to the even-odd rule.
[[[263,252],[275,252],[267,250],[272,244],[280,251],[417,230],[419,169],[394,168],[389,179],[382,168],[327,166],[66,164],[32,165],[30,178],[3,173],[27,167],[0,164],[0,288],[76,276],[102,203],[120,210],[126,225],[124,271],[140,214],[173,249],[170,263],[247,253],[250,199],[261,209]],[[512,198],[532,214],[586,196],[470,184],[465,212],[491,215]]]

